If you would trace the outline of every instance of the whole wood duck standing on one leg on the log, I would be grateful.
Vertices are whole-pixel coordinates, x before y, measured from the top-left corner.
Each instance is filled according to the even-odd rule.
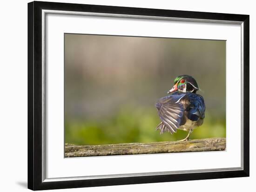
[[[170,132],[173,134],[177,129],[188,131],[185,139],[197,126],[201,126],[204,119],[205,105],[203,97],[196,94],[199,87],[190,75],[180,75],[175,78],[174,86],[168,93],[170,95],[159,99],[155,104],[158,109],[161,123],[156,127],[160,133]]]

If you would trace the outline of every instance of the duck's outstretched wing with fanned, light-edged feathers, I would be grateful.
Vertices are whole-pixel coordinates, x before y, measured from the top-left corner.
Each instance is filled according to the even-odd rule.
[[[185,95],[185,93],[172,94],[161,98],[155,104],[155,107],[158,109],[158,115],[162,120],[162,123],[156,127],[156,130],[160,129],[161,134],[165,131],[174,133],[181,125],[185,108],[180,101]]]

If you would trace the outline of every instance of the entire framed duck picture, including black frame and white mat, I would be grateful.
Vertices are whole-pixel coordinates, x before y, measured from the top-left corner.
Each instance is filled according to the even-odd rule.
[[[28,3],[29,189],[248,176],[249,15]]]

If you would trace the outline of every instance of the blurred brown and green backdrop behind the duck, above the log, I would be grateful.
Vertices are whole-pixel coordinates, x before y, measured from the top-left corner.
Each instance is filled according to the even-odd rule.
[[[190,139],[226,137],[226,42],[65,34],[65,142],[101,145],[174,141],[160,135],[156,101],[176,76],[193,76],[205,99]]]

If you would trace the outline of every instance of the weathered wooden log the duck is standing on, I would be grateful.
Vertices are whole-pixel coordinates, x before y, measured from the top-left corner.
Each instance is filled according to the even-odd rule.
[[[154,143],[125,143],[97,146],[65,144],[65,157],[104,155],[131,155],[169,152],[224,151],[225,138],[194,139],[189,141],[164,141]]]

